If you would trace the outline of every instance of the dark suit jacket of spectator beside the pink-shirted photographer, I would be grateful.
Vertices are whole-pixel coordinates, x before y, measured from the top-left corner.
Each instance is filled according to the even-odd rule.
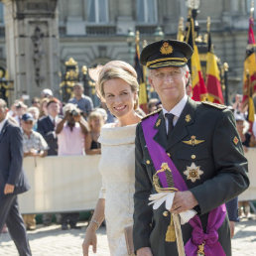
[[[37,131],[42,134],[49,146],[48,156],[57,156],[58,139],[55,134],[55,125],[49,116],[44,116],[38,121]]]

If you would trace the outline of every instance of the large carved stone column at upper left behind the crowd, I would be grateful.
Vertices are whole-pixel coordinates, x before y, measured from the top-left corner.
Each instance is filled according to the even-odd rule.
[[[59,93],[59,23],[57,0],[3,0],[6,56],[11,101],[40,96],[44,88]]]

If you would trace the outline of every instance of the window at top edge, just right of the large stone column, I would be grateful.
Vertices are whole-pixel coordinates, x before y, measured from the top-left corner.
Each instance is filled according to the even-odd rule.
[[[87,17],[90,23],[108,22],[108,1],[107,0],[88,0]]]

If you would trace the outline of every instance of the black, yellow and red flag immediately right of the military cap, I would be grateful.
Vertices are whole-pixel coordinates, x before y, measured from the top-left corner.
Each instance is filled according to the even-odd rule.
[[[192,99],[202,101],[207,98],[207,89],[202,76],[198,49],[194,42],[194,24],[192,17],[189,20],[189,28],[185,41],[190,44],[193,49],[191,63],[189,63],[189,65],[191,64],[190,67],[192,71]]]

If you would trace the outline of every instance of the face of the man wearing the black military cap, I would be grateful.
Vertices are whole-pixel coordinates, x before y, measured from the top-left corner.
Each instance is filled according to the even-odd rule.
[[[177,104],[186,93],[186,72],[182,67],[168,66],[150,71],[149,82],[158,93],[163,105]]]

